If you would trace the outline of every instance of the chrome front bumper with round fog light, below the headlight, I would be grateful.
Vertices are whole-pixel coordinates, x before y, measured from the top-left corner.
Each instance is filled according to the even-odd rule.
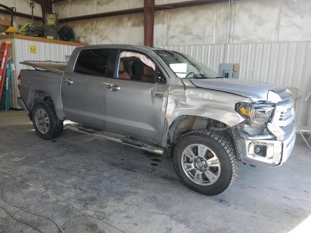
[[[241,138],[237,141],[240,149],[241,161],[252,166],[277,166],[282,165],[291,155],[294,149],[296,133],[295,128],[290,135],[282,140],[261,140],[260,137],[247,139]],[[264,148],[264,153],[258,155],[256,147]]]

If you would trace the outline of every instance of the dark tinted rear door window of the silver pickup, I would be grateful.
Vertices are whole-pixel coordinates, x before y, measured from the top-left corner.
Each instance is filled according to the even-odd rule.
[[[74,72],[105,76],[110,49],[82,50],[79,53]]]

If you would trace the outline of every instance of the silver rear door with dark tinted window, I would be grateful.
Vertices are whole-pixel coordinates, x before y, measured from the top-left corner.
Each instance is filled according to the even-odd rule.
[[[98,128],[105,128],[104,82],[109,74],[111,49],[85,49],[78,54],[71,70],[62,79],[61,96],[64,114],[71,121]],[[73,55],[74,56],[74,55]],[[73,58],[72,58],[73,59]]]

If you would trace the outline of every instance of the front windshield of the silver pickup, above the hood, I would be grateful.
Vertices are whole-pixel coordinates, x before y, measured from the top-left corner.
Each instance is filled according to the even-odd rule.
[[[210,79],[218,74],[194,58],[170,50],[154,50],[179,78]]]

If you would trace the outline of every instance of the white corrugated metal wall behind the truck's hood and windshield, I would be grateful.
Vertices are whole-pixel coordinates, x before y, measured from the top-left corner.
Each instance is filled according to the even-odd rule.
[[[184,52],[219,73],[220,63],[239,63],[240,78],[298,89],[296,122],[308,126],[311,42],[165,46]],[[226,51],[225,51],[226,50]]]

